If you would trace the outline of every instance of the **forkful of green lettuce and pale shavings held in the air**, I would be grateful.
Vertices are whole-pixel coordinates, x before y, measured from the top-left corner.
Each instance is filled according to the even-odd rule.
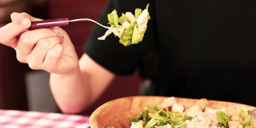
[[[120,17],[114,9],[108,14],[108,24],[110,24],[112,28],[120,29],[108,29],[108,31],[98,39],[105,40],[106,36],[114,33],[115,36],[120,38],[119,43],[124,46],[141,42],[147,29],[148,20],[150,20],[148,6],[149,4],[147,4],[144,10],[139,8],[135,9],[135,15],[131,12],[126,12],[125,14],[122,13]]]

